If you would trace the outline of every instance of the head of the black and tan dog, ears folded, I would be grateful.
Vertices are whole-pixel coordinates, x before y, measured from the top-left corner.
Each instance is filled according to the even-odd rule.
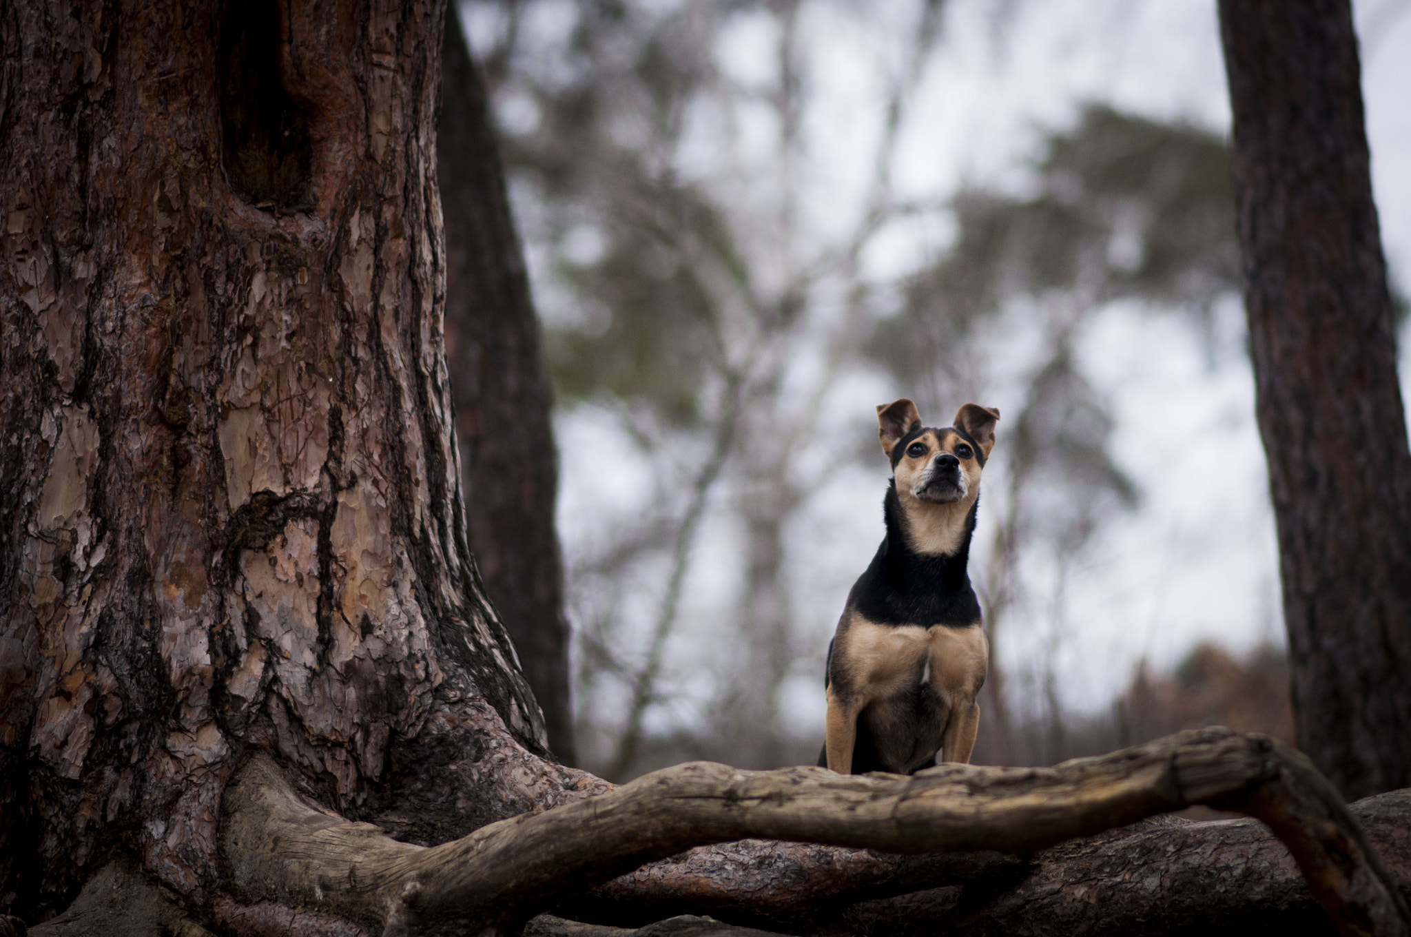
[[[921,426],[916,404],[902,398],[878,406],[878,436],[882,452],[892,460],[896,494],[928,504],[972,501],[979,492],[979,476],[995,447],[999,411],[967,404],[955,413],[955,425],[944,429]]]

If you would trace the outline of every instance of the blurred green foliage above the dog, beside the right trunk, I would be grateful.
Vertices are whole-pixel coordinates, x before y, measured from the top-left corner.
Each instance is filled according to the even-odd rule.
[[[1034,176],[1033,196],[972,189],[954,199],[954,246],[910,279],[902,313],[878,323],[868,346],[903,385],[1016,299],[1078,291],[1079,313],[1139,299],[1204,318],[1239,288],[1219,137],[1089,106],[1077,127],[1048,135]]]

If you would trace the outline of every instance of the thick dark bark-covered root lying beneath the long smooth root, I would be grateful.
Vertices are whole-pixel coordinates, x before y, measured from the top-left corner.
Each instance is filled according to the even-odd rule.
[[[1411,895],[1411,790],[1350,810],[1403,896]],[[825,857],[818,847],[739,842],[725,861],[720,850],[643,866],[560,913],[631,927],[710,910],[792,934],[841,929],[893,937],[1336,933],[1288,850],[1254,820],[1153,817],[1030,858],[845,850]],[[814,854],[799,861],[787,850]]]

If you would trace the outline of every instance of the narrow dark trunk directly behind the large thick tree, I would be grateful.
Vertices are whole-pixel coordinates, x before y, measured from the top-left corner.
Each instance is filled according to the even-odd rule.
[[[436,157],[446,223],[446,357],[470,549],[543,710],[549,748],[573,763],[553,394],[494,121],[454,4],[442,59]]]

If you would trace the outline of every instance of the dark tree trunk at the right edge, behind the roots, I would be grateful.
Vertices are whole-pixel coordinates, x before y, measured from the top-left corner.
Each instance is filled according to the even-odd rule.
[[[1298,744],[1411,786],[1411,453],[1348,0],[1222,0]]]

